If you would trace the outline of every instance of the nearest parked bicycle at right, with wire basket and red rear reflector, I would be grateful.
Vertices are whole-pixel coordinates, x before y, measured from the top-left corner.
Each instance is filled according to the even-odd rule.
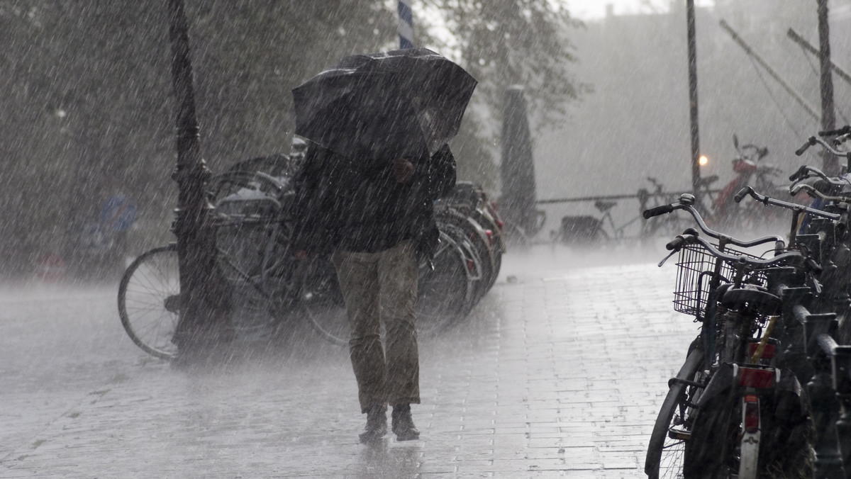
[[[645,473],[746,479],[772,467],[807,470],[808,436],[788,433],[808,424],[808,401],[795,374],[779,366],[781,339],[789,339],[778,322],[783,302],[769,289],[778,278],[815,282],[817,265],[802,251],[786,250],[778,236],[742,241],[713,231],[693,205],[694,197],[683,195],[643,214],[682,209],[717,240],[716,246],[689,229],[666,245],[671,254],[660,262],[679,254],[674,309],[694,316],[701,329],[669,381]],[[774,243],[770,259],[730,248],[768,243]],[[785,414],[774,413],[780,405]]]

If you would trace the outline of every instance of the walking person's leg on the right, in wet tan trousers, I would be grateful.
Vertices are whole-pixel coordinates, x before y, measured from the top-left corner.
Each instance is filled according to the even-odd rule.
[[[379,260],[381,319],[386,333],[386,392],[393,405],[393,432],[400,441],[420,436],[410,404],[420,403],[420,356],[417,349],[418,267],[414,243],[401,242]]]

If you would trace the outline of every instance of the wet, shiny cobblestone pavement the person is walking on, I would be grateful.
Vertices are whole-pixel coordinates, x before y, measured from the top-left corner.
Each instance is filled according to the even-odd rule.
[[[124,334],[114,288],[8,289],[0,477],[644,477],[696,333],[671,310],[674,267],[504,259],[465,322],[420,341],[420,440],[374,447],[346,351],[306,325],[173,368]]]

